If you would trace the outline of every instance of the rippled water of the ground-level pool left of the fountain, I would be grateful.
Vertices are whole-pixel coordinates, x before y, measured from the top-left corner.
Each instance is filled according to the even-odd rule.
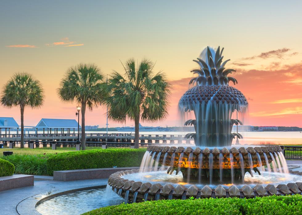
[[[116,195],[112,189],[90,189],[68,193],[46,200],[36,209],[43,215],[76,215],[109,205],[119,205],[124,199]]]

